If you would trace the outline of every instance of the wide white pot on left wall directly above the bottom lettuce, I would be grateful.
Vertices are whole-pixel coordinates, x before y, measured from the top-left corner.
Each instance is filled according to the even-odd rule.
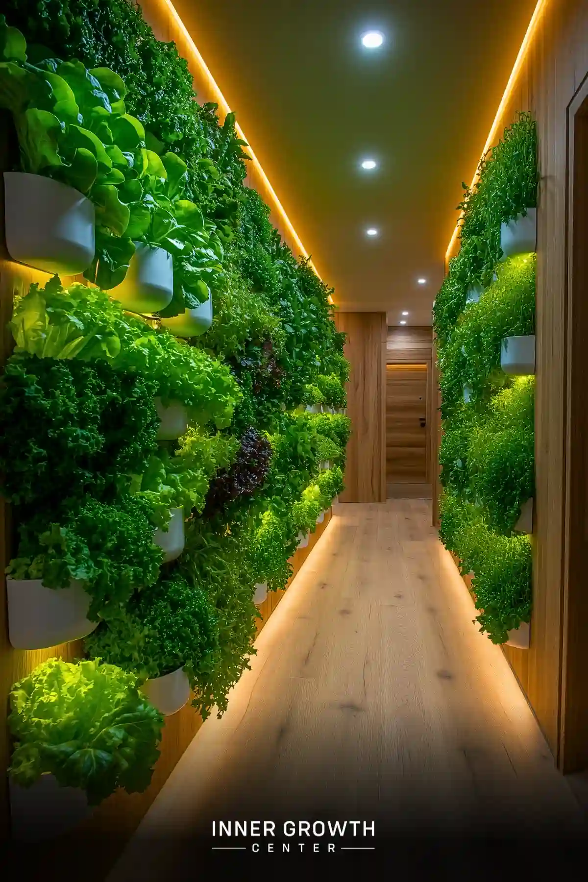
[[[75,579],[47,588],[41,579],[6,579],[8,634],[15,649],[48,649],[86,637],[98,627],[87,618],[90,595]]]

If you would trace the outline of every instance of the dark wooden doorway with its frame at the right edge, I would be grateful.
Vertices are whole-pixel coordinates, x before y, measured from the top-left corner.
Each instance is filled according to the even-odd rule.
[[[584,155],[584,161],[579,157]],[[568,107],[566,237],[566,393],[562,559],[562,680],[557,764],[564,773],[588,768],[588,78]],[[582,480],[584,478],[584,481]]]

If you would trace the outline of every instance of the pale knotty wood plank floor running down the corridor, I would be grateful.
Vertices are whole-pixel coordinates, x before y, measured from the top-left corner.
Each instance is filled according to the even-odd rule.
[[[488,841],[524,841],[517,860],[528,870],[538,843],[584,835],[583,812],[502,651],[473,624],[430,522],[421,499],[333,506],[227,713],[199,730],[108,882],[192,878],[174,868],[196,871],[211,857],[221,819],[278,829],[287,818],[375,820],[375,840],[346,845],[376,848],[361,860],[378,854],[391,867],[401,842],[450,841],[455,855],[471,841],[471,878],[484,867],[520,875]],[[419,849],[411,854],[408,869]],[[285,857],[272,859],[275,871]],[[228,860],[214,852],[218,872]]]

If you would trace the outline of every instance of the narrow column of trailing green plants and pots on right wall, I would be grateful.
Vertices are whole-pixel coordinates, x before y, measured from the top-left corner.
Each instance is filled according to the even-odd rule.
[[[532,608],[537,137],[528,114],[480,164],[433,310],[441,537],[472,577],[482,632],[528,646]]]

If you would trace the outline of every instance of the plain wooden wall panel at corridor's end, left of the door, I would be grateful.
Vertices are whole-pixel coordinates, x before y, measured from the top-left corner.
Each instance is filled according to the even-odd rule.
[[[351,363],[347,415],[352,436],[347,445],[346,490],[340,502],[385,502],[385,312],[339,312]]]

